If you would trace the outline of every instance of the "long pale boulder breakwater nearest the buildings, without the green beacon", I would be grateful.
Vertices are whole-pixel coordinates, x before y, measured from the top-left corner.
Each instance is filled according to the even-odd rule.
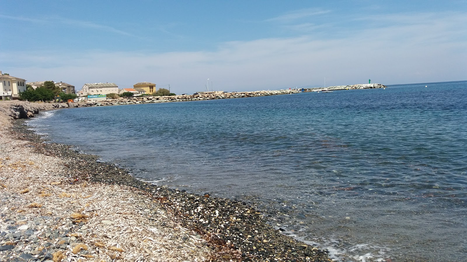
[[[275,95],[286,95],[298,93],[297,90],[268,90],[268,91],[253,91],[253,92],[232,92],[232,93],[217,93],[217,94],[198,94],[198,95],[179,95],[179,96],[163,96],[163,97],[126,97],[118,99],[107,99],[105,101],[88,101],[86,103],[94,103],[95,105],[114,105],[114,104],[136,104],[136,103],[163,103],[163,102],[182,102],[182,101],[199,101],[212,99],[227,99],[241,97],[265,97]]]

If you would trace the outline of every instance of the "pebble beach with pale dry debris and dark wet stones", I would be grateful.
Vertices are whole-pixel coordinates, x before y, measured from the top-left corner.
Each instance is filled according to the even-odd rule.
[[[0,251],[2,259],[47,261],[61,252],[89,261],[332,261],[267,225],[246,203],[143,182],[70,145],[43,143],[21,121],[0,139],[0,155],[11,155],[0,169],[0,250],[11,248]]]

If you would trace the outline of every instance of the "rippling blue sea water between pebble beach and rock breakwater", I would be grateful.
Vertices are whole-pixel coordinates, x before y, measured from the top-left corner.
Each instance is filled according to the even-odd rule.
[[[341,261],[467,261],[466,81],[55,110],[28,124],[146,181],[253,201]]]

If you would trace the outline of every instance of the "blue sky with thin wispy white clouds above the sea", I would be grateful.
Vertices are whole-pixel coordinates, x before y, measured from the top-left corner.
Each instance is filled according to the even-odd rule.
[[[467,0],[2,0],[0,70],[176,94],[467,80]],[[209,79],[209,80],[207,80]]]

